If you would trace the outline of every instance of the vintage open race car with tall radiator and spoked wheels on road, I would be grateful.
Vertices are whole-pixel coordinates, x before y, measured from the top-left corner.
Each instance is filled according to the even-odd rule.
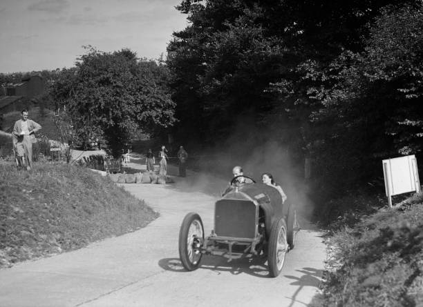
[[[196,270],[203,255],[266,257],[271,277],[281,273],[285,254],[294,248],[299,231],[294,205],[283,204],[276,188],[265,184],[241,184],[216,201],[214,230],[205,237],[203,221],[188,213],[179,232],[179,256],[186,270]],[[236,183],[238,177],[232,179]],[[247,182],[247,180],[245,180]]]

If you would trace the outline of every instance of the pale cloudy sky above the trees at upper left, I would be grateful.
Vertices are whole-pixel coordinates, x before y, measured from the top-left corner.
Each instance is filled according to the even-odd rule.
[[[174,31],[187,26],[181,0],[1,0],[0,72],[75,66],[82,46],[138,57],[166,55]]]

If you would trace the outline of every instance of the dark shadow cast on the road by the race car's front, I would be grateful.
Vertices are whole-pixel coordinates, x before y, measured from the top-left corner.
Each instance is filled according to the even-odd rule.
[[[232,275],[248,274],[260,278],[270,278],[267,264],[267,258],[251,257],[233,259],[227,261],[226,258],[207,255],[201,259],[198,270],[212,270],[218,275],[223,272],[229,272]],[[188,273],[182,266],[179,258],[164,258],[158,261],[160,268],[175,272]]]

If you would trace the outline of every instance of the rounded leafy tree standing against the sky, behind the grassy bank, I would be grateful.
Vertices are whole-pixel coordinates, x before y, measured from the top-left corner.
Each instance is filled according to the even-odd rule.
[[[118,155],[131,132],[153,132],[175,121],[174,103],[162,64],[137,59],[134,52],[88,53],[53,83],[57,108],[66,110],[80,140],[104,137]]]

